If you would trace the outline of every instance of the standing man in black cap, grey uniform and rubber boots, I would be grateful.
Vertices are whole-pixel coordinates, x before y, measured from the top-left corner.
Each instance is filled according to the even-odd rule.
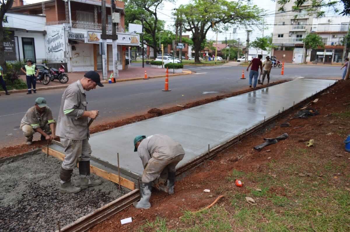
[[[77,193],[81,189],[101,183],[100,180],[90,180],[91,146],[88,142],[90,134],[87,118],[95,119],[98,110],[86,110],[85,95],[86,91],[95,89],[96,85],[103,87],[100,75],[95,71],[88,71],[82,79],[70,84],[62,95],[56,128],[66,155],[59,174],[59,190],[62,193]],[[77,162],[81,188],[72,186],[70,182]]]

